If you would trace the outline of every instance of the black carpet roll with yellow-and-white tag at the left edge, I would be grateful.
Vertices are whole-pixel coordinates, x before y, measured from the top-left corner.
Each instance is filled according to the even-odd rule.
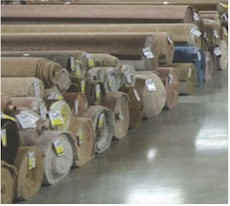
[[[17,123],[1,115],[1,160],[9,164],[15,163],[19,140]]]

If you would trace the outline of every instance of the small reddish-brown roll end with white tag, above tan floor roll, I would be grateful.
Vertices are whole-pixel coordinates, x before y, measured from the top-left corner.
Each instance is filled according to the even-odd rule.
[[[77,116],[81,116],[89,107],[86,95],[80,92],[66,92],[64,99],[72,109],[72,113]]]

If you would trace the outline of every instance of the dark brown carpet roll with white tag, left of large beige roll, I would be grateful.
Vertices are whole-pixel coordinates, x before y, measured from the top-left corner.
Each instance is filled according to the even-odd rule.
[[[140,94],[134,87],[121,88],[121,91],[128,95],[129,102],[129,128],[140,126],[144,116],[144,106]]]

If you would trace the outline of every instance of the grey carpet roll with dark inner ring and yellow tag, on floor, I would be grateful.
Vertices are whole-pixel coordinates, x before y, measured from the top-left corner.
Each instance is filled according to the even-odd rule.
[[[103,106],[91,106],[83,117],[93,121],[96,133],[95,152],[105,152],[111,145],[114,136],[114,116],[111,110]]]

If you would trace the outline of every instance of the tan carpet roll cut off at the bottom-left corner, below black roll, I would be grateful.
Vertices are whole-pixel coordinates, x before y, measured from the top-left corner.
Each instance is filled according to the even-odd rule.
[[[1,204],[12,204],[16,198],[16,168],[1,160]]]

